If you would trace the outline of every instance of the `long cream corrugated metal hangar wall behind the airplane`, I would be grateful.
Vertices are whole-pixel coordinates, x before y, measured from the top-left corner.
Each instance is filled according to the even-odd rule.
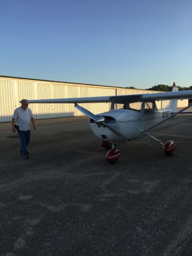
[[[153,93],[153,91],[123,89],[119,87],[0,77],[0,122],[11,121],[13,111],[20,106],[19,101],[21,99],[77,98],[150,92]],[[135,106],[136,105],[137,103],[135,103]],[[157,102],[158,108],[162,108],[166,105],[167,101]],[[187,105],[188,100],[178,101],[178,107]],[[102,113],[110,109],[109,103],[82,103],[81,106],[89,109],[94,114]],[[31,104],[29,107],[33,110],[35,119],[82,115],[73,104]]]

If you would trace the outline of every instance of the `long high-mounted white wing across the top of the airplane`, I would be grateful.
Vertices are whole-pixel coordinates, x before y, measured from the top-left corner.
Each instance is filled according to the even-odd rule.
[[[192,90],[178,92],[158,92],[146,94],[130,94],[103,97],[85,97],[85,98],[66,98],[66,99],[42,99],[29,100],[29,103],[97,103],[97,102],[113,102],[113,103],[133,103],[140,101],[170,100],[170,99],[191,99]]]

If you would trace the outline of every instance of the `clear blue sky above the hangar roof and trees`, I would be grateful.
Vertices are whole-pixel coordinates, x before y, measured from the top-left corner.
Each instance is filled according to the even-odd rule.
[[[0,75],[192,85],[191,0],[0,0]]]

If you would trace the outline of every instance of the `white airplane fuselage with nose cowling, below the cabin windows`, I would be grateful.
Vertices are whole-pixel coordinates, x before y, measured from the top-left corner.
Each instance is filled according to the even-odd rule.
[[[139,138],[142,132],[149,127],[162,121],[162,118],[170,116],[170,111],[157,110],[153,113],[145,113],[145,110],[131,110],[131,109],[112,109],[106,113],[97,115],[104,116],[106,123],[113,126],[118,131],[122,132],[128,138],[132,140]],[[97,125],[90,119],[91,129],[94,134],[104,141],[116,141],[123,142],[125,139],[109,130],[105,125]]]

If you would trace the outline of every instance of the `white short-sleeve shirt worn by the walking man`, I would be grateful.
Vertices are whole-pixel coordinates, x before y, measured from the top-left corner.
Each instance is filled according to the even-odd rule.
[[[16,124],[19,126],[19,130],[30,130],[30,119],[33,118],[33,114],[30,108],[23,110],[21,107],[16,108],[13,113],[13,118],[16,119]]]

